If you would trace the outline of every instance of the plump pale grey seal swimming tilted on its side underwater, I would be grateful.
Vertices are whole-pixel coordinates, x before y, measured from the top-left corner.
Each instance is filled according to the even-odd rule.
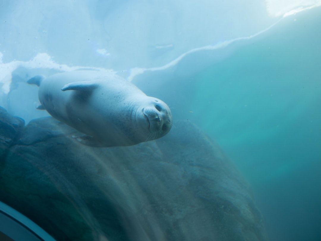
[[[27,81],[39,86],[38,109],[84,135],[92,147],[131,146],[166,135],[172,127],[169,107],[120,76],[78,70]]]

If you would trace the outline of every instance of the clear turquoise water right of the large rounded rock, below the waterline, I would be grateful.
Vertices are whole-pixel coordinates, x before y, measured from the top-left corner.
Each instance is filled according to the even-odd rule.
[[[320,16],[280,24],[195,77],[193,120],[250,181],[271,240],[321,239]]]

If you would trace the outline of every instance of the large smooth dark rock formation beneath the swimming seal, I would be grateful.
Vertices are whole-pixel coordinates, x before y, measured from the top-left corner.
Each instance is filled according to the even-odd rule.
[[[247,182],[197,127],[91,148],[51,117],[0,111],[0,201],[57,240],[265,241]]]

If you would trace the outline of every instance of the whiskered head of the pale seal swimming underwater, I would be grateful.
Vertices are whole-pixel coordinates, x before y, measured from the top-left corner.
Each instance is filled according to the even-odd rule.
[[[172,128],[172,113],[160,99],[147,97],[141,109],[147,127],[146,141],[158,139],[166,135]],[[140,115],[142,116],[142,115]]]

